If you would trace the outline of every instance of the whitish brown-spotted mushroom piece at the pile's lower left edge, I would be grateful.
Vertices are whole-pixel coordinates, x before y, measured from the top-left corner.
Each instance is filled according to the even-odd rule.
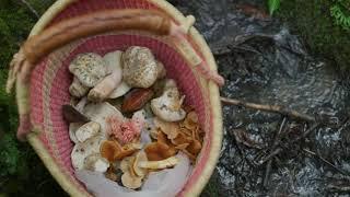
[[[102,136],[95,136],[82,143],[77,143],[71,152],[72,165],[75,170],[83,170],[85,158],[98,153],[100,146],[104,141]]]

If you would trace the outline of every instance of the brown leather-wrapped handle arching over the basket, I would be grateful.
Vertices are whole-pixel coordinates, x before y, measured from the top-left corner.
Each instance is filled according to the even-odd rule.
[[[11,91],[23,65],[32,68],[45,55],[78,38],[117,30],[141,30],[158,35],[180,31],[179,27],[175,31],[173,28],[171,19],[156,10],[105,10],[65,20],[30,37],[14,55],[10,63],[7,91]],[[28,73],[24,74],[24,81],[27,80],[31,68],[25,69]]]

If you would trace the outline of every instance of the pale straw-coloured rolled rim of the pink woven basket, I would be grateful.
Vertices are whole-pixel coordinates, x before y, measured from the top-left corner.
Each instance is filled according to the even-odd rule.
[[[38,22],[32,28],[30,36],[34,36],[39,34],[51,20],[59,14],[62,10],[65,10],[68,5],[75,2],[77,0],[58,0],[56,1],[38,20]],[[165,0],[147,0],[152,4],[160,8],[162,11],[166,12],[173,20],[178,23],[184,23],[186,18],[183,13],[180,13],[174,5],[168,3]],[[205,38],[200,35],[200,33],[196,30],[196,27],[190,27],[189,30],[189,38],[194,40],[194,43],[198,46],[198,49],[202,54],[205,60],[207,61],[210,70],[217,71],[218,67],[214,61],[214,57],[205,40]],[[212,81],[208,81],[208,89],[209,89],[209,100],[211,104],[211,112],[212,112],[212,129],[213,136],[211,139],[211,148],[209,152],[209,159],[206,164],[206,167],[201,172],[201,177],[195,182],[195,184],[186,190],[184,196],[199,196],[203,187],[207,185],[213,170],[217,165],[219,160],[220,149],[222,144],[222,108],[220,102],[220,93],[219,86],[217,83]],[[16,90],[19,92],[20,90]],[[19,99],[18,99],[19,100]],[[69,184],[65,174],[61,173],[58,165],[55,163],[54,159],[50,157],[49,152],[45,149],[43,142],[38,139],[37,128],[34,129],[30,135],[27,135],[27,140],[30,144],[34,148],[35,152],[39,155],[48,171],[58,182],[58,184],[71,196],[85,196],[89,195],[88,193],[82,193],[75,186]]]

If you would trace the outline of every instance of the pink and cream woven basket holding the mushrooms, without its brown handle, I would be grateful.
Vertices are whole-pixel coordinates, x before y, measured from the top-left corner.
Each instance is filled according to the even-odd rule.
[[[32,48],[33,51],[21,54],[25,50],[22,47],[14,56],[8,81],[9,89],[13,82],[16,86],[20,114],[18,137],[31,143],[68,194],[91,196],[74,177],[70,159],[73,144],[69,139],[68,124],[62,118],[61,106],[70,102],[68,88],[72,81],[68,65],[80,53],[104,55],[132,45],[145,46],[164,63],[168,77],[176,80],[186,94],[186,102],[195,106],[206,132],[195,169],[177,195],[198,196],[214,170],[221,148],[222,117],[218,83],[222,83],[222,78],[217,73],[213,56],[206,42],[191,27],[192,16],[185,18],[163,0],[58,0],[33,27],[30,38],[80,15],[94,14],[101,10],[126,9],[155,10],[185,31],[179,34],[165,31],[163,34],[168,35],[160,35],[154,33],[156,31],[139,30],[137,25],[133,28],[119,26],[51,48],[45,55],[36,57],[37,61],[28,63],[25,58],[31,53],[33,56],[36,49],[39,50],[40,45],[34,45],[37,47],[35,50]],[[72,31],[74,28],[71,27]],[[51,40],[57,39],[54,37]]]

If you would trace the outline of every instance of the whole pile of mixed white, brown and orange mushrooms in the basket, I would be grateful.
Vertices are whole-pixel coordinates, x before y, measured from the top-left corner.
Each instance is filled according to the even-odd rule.
[[[72,100],[62,111],[75,170],[137,189],[150,172],[175,166],[179,151],[196,161],[203,140],[197,114],[149,48],[80,54],[69,71]]]

